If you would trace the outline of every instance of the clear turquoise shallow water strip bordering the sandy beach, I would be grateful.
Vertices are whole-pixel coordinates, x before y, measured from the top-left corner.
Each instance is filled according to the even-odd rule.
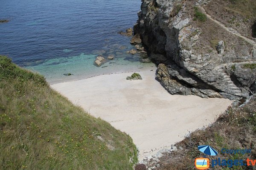
[[[155,68],[153,63],[141,63],[139,61],[129,61],[126,57],[116,57],[108,60],[100,67],[96,67],[93,63],[97,55],[81,53],[78,56],[59,57],[47,59],[44,62],[26,66],[29,70],[39,72],[47,77],[50,83],[58,83],[64,81],[73,81],[77,79],[85,79],[102,74],[122,73],[128,71],[143,71]],[[132,56],[138,58],[138,56]],[[72,74],[65,76],[64,74]]]

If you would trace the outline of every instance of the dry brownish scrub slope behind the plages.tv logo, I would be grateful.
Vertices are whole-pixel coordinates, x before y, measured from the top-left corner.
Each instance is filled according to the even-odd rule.
[[[177,150],[160,159],[157,170],[193,170],[195,158],[205,156],[198,151],[198,145],[210,145],[218,156],[209,159],[256,159],[256,96],[241,108],[228,108],[217,121],[203,130],[196,130],[176,144]],[[222,148],[252,149],[249,154],[221,153]],[[183,161],[180,161],[182,159]],[[246,162],[246,161],[245,161]],[[215,170],[255,170],[253,166],[214,167]]]

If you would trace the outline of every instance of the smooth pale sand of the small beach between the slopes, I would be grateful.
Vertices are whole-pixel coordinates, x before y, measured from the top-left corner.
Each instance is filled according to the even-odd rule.
[[[139,160],[214,122],[231,104],[228,99],[171,95],[155,80],[155,71],[140,75],[143,80],[126,80],[131,73],[122,73],[51,86],[91,115],[128,133],[140,150]]]

